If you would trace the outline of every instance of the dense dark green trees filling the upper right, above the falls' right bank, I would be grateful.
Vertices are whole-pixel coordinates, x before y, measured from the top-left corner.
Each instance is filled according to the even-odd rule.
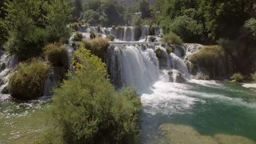
[[[159,0],[150,9],[165,34],[185,43],[215,45],[231,56],[235,71],[248,75],[256,67],[255,1]]]

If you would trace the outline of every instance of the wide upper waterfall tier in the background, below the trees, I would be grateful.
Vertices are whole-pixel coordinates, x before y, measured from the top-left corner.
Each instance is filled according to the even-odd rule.
[[[84,38],[90,39],[90,32],[93,31],[97,35],[106,37],[113,34],[117,40],[121,41],[139,41],[144,40],[149,35],[160,35],[161,28],[159,26],[142,26],[142,27],[87,27],[78,25],[74,27],[75,31],[83,33]],[[152,41],[153,38],[149,38]],[[147,41],[147,40],[146,40]]]

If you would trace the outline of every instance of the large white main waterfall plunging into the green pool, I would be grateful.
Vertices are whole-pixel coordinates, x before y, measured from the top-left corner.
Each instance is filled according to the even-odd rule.
[[[173,82],[179,82],[176,79],[180,75],[191,79],[183,59],[174,53],[169,55],[166,46],[159,43],[111,43],[105,59],[110,80],[118,88],[129,86],[142,90],[161,79],[166,81],[165,70],[173,71]],[[156,49],[163,52],[161,58],[156,56]]]

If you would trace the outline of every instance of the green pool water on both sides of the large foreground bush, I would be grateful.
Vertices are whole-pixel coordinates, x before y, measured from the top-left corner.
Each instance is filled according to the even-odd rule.
[[[157,82],[141,96],[142,143],[178,143],[166,139],[160,129],[168,129],[170,125],[165,124],[188,131],[188,139],[222,134],[226,141],[230,139],[228,135],[234,135],[232,139],[241,136],[242,140],[256,142],[255,97],[255,91],[233,83]],[[35,143],[48,128],[45,109],[49,104],[47,100],[21,102],[1,95],[0,143]],[[184,139],[179,131],[172,130],[171,136]],[[240,139],[236,141],[241,143]]]

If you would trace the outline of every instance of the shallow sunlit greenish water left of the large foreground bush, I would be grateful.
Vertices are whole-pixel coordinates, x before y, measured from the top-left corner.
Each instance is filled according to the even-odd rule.
[[[46,125],[46,100],[15,101],[0,95],[0,143],[35,143]]]

